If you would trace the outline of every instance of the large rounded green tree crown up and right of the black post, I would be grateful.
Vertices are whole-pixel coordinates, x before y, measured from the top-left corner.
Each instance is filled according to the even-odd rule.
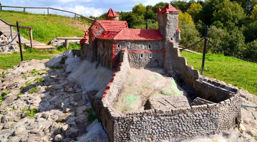
[[[244,13],[243,8],[237,2],[224,0],[219,4],[218,10],[213,13],[212,21],[220,21],[224,24],[231,21],[238,26],[242,25],[245,17],[246,14]]]

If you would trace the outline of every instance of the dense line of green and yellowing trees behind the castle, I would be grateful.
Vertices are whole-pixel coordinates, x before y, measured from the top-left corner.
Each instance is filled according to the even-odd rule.
[[[128,22],[129,28],[158,29],[156,11],[168,3],[160,2],[155,6],[135,5],[130,12],[116,12],[120,20]],[[179,28],[180,45],[187,47],[204,36],[209,26],[209,39],[215,44],[238,56],[257,60],[257,0],[206,0],[171,1],[170,4],[181,10]],[[92,17],[105,19],[104,15]],[[202,52],[203,42],[191,48]],[[208,52],[220,53],[208,44]]]

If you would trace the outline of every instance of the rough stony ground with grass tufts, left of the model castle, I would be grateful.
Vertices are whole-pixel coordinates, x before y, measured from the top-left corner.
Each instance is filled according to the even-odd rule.
[[[1,74],[0,141],[108,141],[86,92],[66,80],[66,65],[46,61]]]

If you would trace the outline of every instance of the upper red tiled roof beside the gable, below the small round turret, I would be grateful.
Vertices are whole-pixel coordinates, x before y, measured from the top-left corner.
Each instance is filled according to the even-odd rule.
[[[127,21],[99,20],[99,23],[106,31],[118,31],[128,28]]]

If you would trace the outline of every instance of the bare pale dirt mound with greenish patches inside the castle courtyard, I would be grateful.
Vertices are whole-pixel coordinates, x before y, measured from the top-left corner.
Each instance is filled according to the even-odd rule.
[[[121,91],[114,108],[120,112],[144,110],[147,98],[182,96],[187,93],[176,85],[161,68],[130,69],[124,89]]]

